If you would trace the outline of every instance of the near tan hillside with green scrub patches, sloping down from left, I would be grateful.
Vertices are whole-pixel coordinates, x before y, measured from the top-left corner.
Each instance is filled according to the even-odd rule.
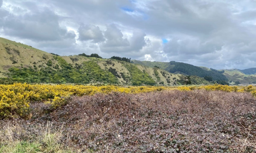
[[[116,59],[58,56],[0,38],[0,83],[182,85],[185,76]],[[193,84],[209,84],[192,77]]]

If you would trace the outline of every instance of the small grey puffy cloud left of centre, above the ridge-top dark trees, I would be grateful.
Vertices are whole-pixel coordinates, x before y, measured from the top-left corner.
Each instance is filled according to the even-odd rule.
[[[81,41],[92,40],[92,42],[102,42],[105,40],[102,31],[98,26],[81,25],[78,29],[78,32],[79,40]]]

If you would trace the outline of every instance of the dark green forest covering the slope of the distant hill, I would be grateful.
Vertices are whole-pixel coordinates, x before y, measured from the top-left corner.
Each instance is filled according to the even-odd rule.
[[[215,71],[214,69],[211,69],[212,71],[206,71],[198,66],[186,64],[183,62],[171,61],[169,63],[172,66],[169,66],[167,71],[171,73],[182,72],[187,75],[196,75],[198,77],[207,77],[207,76],[212,77],[212,80],[215,80],[215,81],[216,80],[227,81],[227,78],[223,74],[221,74],[222,71],[217,71],[217,70]]]

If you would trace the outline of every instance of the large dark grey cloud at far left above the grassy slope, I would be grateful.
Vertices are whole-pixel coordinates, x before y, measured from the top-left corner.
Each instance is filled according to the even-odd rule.
[[[59,40],[67,30],[59,26],[58,16],[51,11],[26,16],[10,15],[4,20],[4,33],[35,41]]]

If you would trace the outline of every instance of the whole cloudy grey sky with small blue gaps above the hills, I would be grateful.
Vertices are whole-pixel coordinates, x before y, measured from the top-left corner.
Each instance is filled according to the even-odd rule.
[[[256,67],[256,0],[0,0],[0,37],[60,55]]]

